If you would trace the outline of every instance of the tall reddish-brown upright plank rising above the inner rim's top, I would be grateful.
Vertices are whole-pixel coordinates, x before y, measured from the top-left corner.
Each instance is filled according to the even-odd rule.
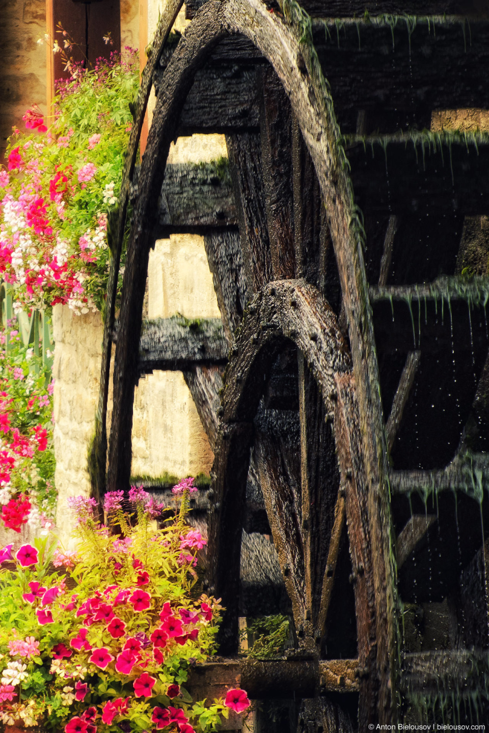
[[[268,67],[259,75],[262,100],[260,129],[265,205],[273,279],[295,277],[290,101],[276,73]]]

